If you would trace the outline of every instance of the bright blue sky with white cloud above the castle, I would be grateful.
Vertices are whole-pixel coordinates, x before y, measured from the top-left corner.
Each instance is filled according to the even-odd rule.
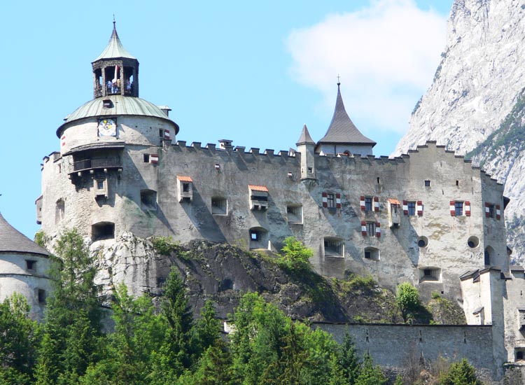
[[[172,108],[177,139],[295,147],[321,139],[337,75],[346,111],[389,155],[430,86],[452,0],[7,1],[0,13],[0,212],[32,238],[42,158],[92,99],[91,62],[115,14],[140,96]]]

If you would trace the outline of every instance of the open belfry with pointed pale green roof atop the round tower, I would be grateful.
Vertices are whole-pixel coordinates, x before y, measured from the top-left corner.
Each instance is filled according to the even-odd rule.
[[[115,20],[108,45],[91,64],[94,99],[112,94],[139,97],[139,60],[120,43]]]

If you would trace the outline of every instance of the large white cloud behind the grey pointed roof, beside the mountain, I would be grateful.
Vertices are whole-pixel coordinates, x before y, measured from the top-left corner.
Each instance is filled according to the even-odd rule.
[[[410,113],[430,86],[444,49],[446,18],[413,0],[376,0],[353,13],[328,15],[292,31],[286,45],[295,79],[335,102],[336,76],[363,132],[405,132]]]

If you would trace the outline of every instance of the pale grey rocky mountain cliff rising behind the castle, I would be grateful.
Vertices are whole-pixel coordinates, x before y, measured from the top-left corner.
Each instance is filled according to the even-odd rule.
[[[507,241],[514,262],[525,242],[522,210],[525,169],[524,125],[525,1],[456,0],[447,44],[433,84],[414,108],[409,130],[395,155],[435,140],[472,156],[493,178],[505,183]]]

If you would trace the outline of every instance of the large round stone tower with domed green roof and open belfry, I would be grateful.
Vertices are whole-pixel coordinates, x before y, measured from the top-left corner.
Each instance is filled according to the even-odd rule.
[[[159,158],[179,125],[169,107],[139,98],[139,61],[120,42],[115,22],[92,71],[93,99],[64,119],[60,151],[44,158],[38,222],[46,235],[77,228],[93,241],[125,230],[151,235],[159,227],[158,216],[149,215]]]

